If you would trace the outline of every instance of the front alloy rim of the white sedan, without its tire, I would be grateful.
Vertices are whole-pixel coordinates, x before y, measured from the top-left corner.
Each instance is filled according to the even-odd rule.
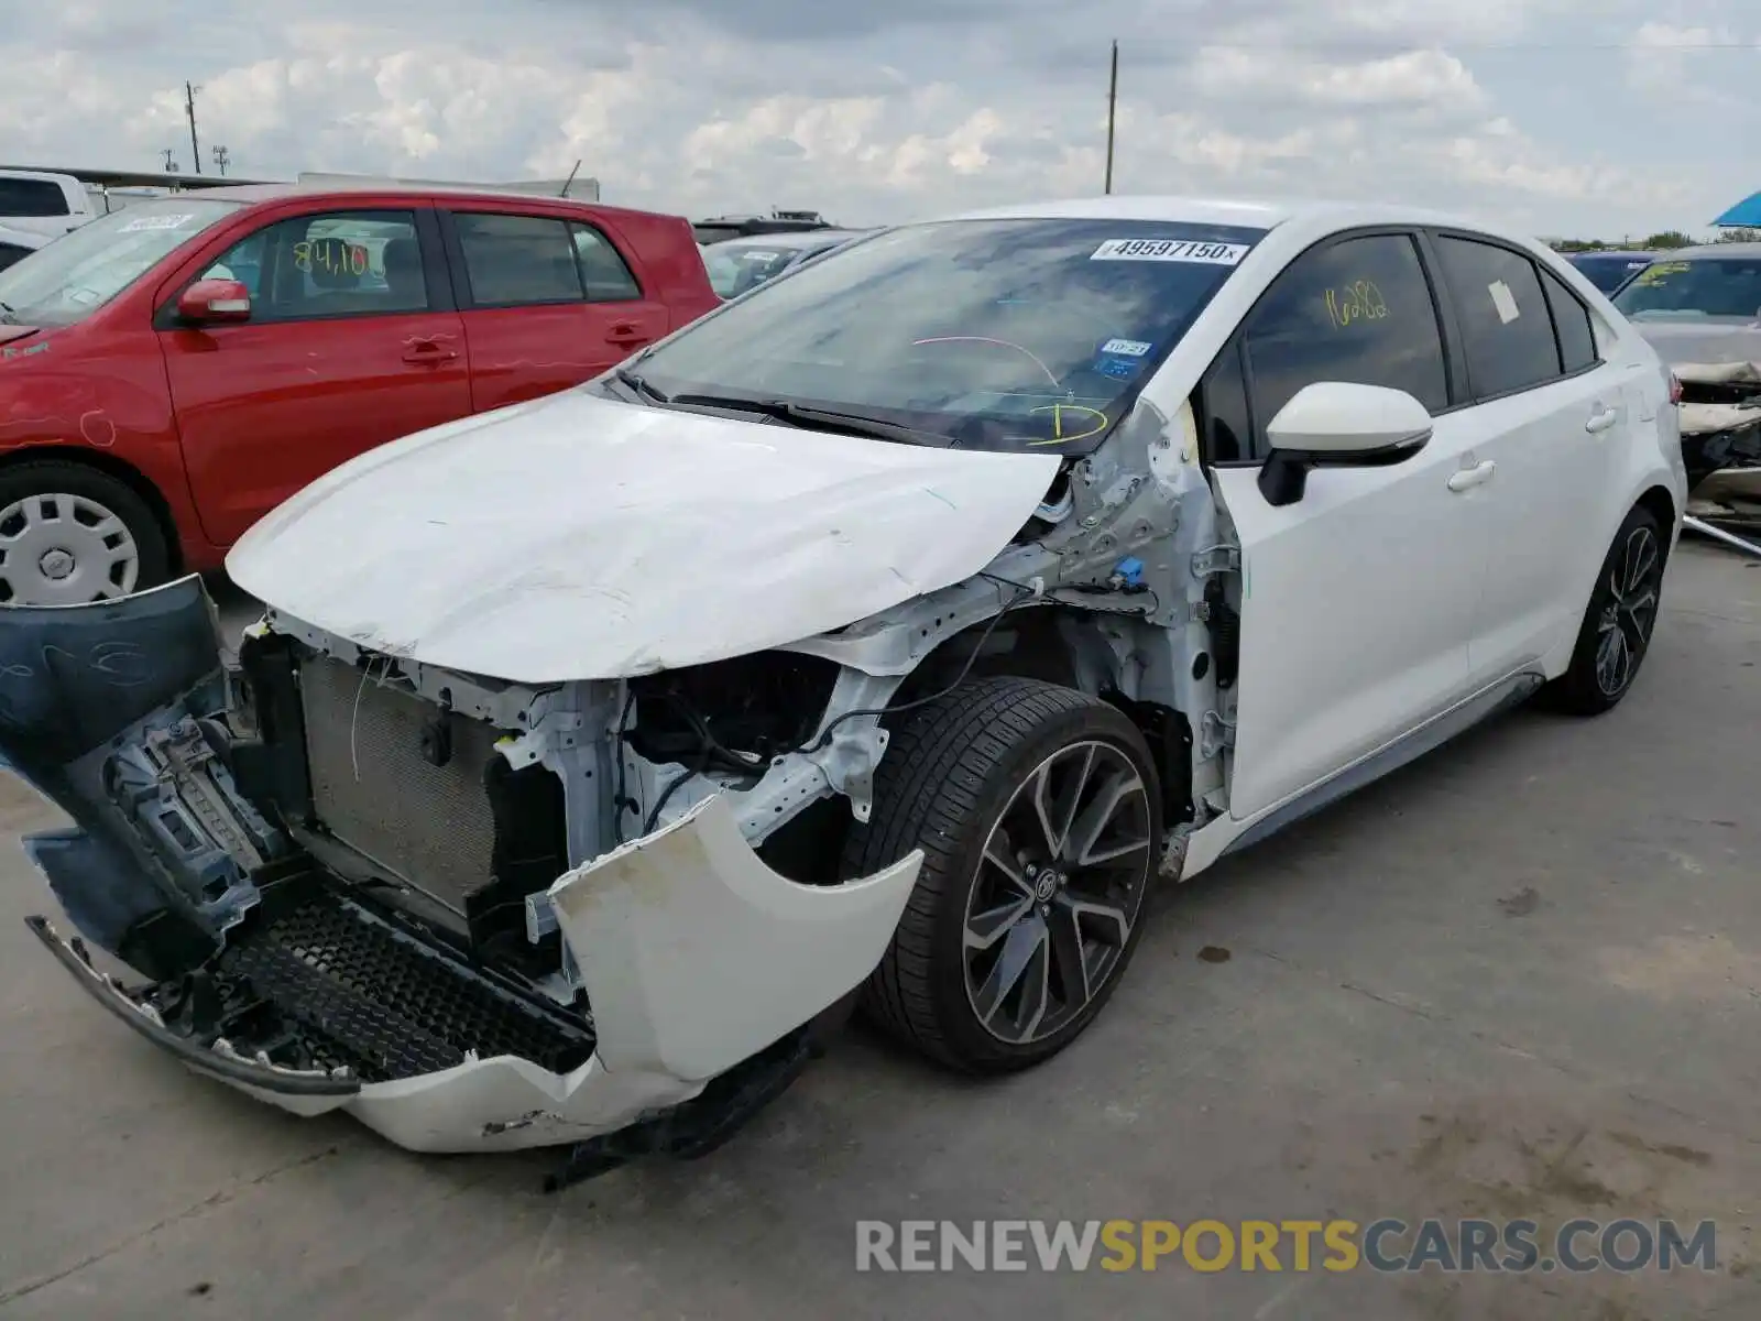
[[[1115,745],[1041,761],[984,840],[967,898],[972,1011],[998,1041],[1043,1041],[1095,999],[1131,941],[1155,863],[1150,789]]]

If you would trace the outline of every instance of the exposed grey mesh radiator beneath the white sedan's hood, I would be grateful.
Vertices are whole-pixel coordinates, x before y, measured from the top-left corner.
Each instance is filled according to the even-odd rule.
[[[329,657],[306,657],[299,694],[312,801],[319,821],[387,872],[465,911],[493,875],[495,819],[483,771],[497,731],[449,717],[451,757],[423,756],[423,729],[440,708]]]

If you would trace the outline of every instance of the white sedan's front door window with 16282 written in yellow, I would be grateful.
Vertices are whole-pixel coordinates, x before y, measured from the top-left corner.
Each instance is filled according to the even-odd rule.
[[[1324,380],[1404,389],[1432,412],[1449,405],[1437,308],[1407,234],[1303,254],[1254,308],[1243,343],[1261,432]]]

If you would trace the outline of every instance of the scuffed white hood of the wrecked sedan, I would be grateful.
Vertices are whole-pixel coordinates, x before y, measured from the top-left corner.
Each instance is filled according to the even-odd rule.
[[[345,463],[232,581],[359,646],[525,683],[625,678],[836,629],[972,576],[1051,454],[865,440],[571,389]]]

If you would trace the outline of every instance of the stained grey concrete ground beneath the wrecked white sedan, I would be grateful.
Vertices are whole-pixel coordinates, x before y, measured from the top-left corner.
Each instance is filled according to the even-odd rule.
[[[558,1196],[181,1071],[0,842],[0,1316],[1761,1316],[1761,565],[1684,544],[1664,602],[1610,717],[1518,712],[1166,893],[1051,1064],[852,1032],[715,1155]],[[55,821],[0,782],[0,835]],[[1428,1215],[1713,1219],[1719,1268],[854,1270],[859,1219]]]

